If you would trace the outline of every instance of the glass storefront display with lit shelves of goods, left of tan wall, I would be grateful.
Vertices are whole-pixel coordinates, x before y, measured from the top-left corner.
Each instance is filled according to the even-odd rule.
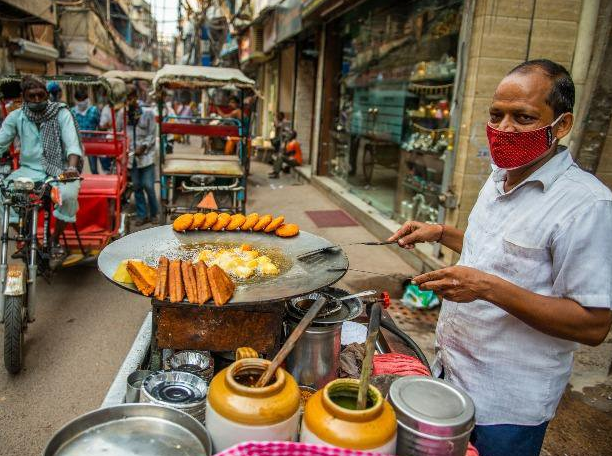
[[[398,221],[436,221],[462,2],[366,2],[338,19],[342,68],[329,174]]]

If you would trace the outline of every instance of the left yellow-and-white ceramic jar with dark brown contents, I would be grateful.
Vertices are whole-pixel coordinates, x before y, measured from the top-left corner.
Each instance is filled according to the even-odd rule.
[[[295,441],[299,425],[300,389],[284,369],[277,369],[270,384],[248,386],[270,361],[239,359],[213,378],[208,390],[206,428],[215,452],[240,442]]]

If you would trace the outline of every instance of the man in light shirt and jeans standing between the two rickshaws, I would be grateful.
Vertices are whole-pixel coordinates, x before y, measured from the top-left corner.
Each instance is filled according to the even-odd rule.
[[[128,87],[127,110],[128,166],[136,200],[136,226],[159,223],[155,194],[155,113],[140,106],[133,85]]]

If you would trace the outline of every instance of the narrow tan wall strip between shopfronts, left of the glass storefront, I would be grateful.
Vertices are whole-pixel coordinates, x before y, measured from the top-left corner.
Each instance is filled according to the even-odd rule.
[[[304,163],[310,163],[315,79],[315,63],[309,59],[300,59],[295,93],[294,128],[302,147]]]

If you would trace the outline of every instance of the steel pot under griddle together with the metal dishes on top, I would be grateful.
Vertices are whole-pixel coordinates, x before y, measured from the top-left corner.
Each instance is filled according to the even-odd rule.
[[[321,296],[327,303],[298,339],[287,357],[287,370],[300,385],[323,388],[338,377],[342,323],[358,317],[362,311],[359,298],[336,301],[349,293],[340,288],[325,288],[319,293],[292,299],[287,303],[287,334],[298,325],[310,306]]]

